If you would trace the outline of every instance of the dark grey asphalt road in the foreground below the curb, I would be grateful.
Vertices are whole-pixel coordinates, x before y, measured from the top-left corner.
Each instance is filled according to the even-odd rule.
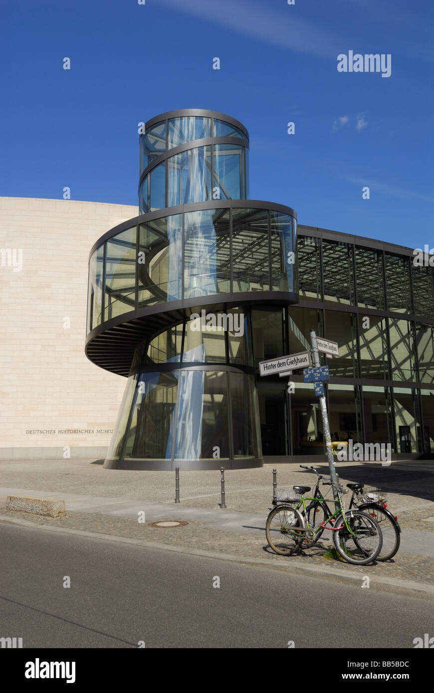
[[[0,545],[0,637],[23,647],[413,648],[433,632],[431,602],[338,578],[6,523]]]

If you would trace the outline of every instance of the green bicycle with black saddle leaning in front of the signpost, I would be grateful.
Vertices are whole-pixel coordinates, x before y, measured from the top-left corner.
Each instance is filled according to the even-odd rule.
[[[323,482],[323,485],[334,486],[338,495],[338,500],[333,500],[337,509],[332,514],[319,489],[320,481],[324,477],[313,467],[312,470],[318,475],[313,498],[306,498],[304,495],[311,490],[311,486],[293,486],[295,495],[280,491],[280,498],[277,500],[281,501],[281,505],[270,511],[266,523],[266,536],[270,547],[281,556],[290,556],[299,552],[302,547],[313,546],[324,529],[329,529],[333,532],[336,550],[345,561],[353,565],[372,563],[379,555],[383,544],[379,524],[371,515],[359,509],[345,511],[341,495],[347,491],[344,491],[342,484],[336,486],[328,481]],[[306,500],[312,501],[308,507]],[[322,522],[318,522],[316,518],[318,506],[324,511]]]

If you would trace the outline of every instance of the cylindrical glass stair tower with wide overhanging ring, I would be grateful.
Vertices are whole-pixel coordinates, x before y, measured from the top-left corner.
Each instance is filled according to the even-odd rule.
[[[89,256],[86,353],[128,378],[105,467],[263,464],[252,307],[298,301],[297,222],[248,199],[248,149],[213,111],[144,126],[139,216]]]

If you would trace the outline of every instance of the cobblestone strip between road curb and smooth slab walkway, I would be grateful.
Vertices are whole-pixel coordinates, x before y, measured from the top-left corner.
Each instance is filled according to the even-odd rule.
[[[329,573],[333,573],[333,570],[343,569],[349,571],[349,574],[360,574],[361,580],[363,576],[367,575],[371,580],[375,579],[376,576],[383,576],[396,579],[397,582],[405,579],[419,583],[434,584],[434,559],[426,556],[413,556],[398,552],[394,556],[393,561],[376,563],[376,565],[356,566],[341,561],[324,559],[324,553],[330,547],[330,544],[326,541],[320,541],[318,547],[306,550],[299,556],[277,556],[267,546],[265,536],[262,538],[261,536],[250,534],[225,532],[221,529],[209,529],[209,527],[205,527],[205,525],[196,521],[189,521],[189,524],[183,527],[164,529],[149,527],[147,524],[138,523],[137,520],[99,513],[90,514],[69,511],[64,518],[45,518],[28,513],[7,511],[2,508],[0,509],[0,516],[1,518],[28,520],[35,523],[35,525],[80,529],[86,532],[98,532],[100,534],[166,543],[173,546],[193,547],[205,551],[235,554],[240,556],[241,563],[244,556],[270,561],[270,565],[272,563],[293,563],[302,566],[315,565],[322,568],[327,566],[327,572]],[[164,518],[164,520],[176,519],[175,512]],[[401,520],[401,517],[399,519]],[[408,513],[408,518],[403,518],[413,528],[415,528],[415,519],[415,514],[412,513]],[[265,514],[263,524],[265,527]],[[422,524],[424,523],[418,523],[417,529],[421,529]],[[426,524],[430,525],[430,523]],[[428,531],[430,530],[428,529]],[[338,581],[339,577],[338,575],[336,576]]]

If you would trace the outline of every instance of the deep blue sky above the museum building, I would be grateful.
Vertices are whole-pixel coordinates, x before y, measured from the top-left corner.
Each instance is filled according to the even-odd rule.
[[[21,0],[2,26],[0,195],[137,204],[137,124],[202,107],[248,128],[250,198],[433,247],[432,0]],[[339,73],[349,50],[390,77]]]

